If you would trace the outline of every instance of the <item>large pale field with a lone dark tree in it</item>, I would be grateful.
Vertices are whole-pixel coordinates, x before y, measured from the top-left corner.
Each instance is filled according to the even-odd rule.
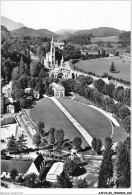
[[[109,71],[111,62],[114,62],[117,73],[111,73]],[[85,71],[93,72],[100,76],[104,72],[107,72],[109,75],[112,75],[115,78],[130,81],[130,62],[128,59],[121,59],[119,57],[107,57],[91,60],[82,60],[74,65]]]

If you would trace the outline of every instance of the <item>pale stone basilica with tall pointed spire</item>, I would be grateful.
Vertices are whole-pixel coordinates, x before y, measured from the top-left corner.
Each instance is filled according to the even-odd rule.
[[[59,77],[65,79],[71,78],[70,70],[64,62],[63,55],[60,64],[58,64],[58,61],[55,59],[55,48],[56,42],[54,42],[52,37],[50,52],[47,52],[46,57],[44,58],[44,66],[50,70],[50,76],[52,75],[55,78]]]

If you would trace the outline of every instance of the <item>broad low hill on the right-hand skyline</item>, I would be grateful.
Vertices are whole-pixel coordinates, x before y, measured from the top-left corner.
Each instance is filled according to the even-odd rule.
[[[110,28],[110,27],[99,27],[93,28],[90,30],[78,30],[75,31],[74,35],[84,35],[84,34],[92,34],[93,37],[107,37],[114,36],[120,34],[121,30]]]

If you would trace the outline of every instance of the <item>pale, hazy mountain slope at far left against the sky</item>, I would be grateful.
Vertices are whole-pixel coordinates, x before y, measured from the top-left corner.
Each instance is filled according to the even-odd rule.
[[[1,25],[5,26],[10,31],[24,27],[22,23],[14,22],[4,16],[1,16]]]

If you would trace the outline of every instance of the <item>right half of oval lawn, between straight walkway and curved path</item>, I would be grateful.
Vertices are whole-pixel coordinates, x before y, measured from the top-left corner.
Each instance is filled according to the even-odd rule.
[[[99,111],[69,99],[58,99],[68,112],[89,132],[102,139],[111,136],[111,124]]]

